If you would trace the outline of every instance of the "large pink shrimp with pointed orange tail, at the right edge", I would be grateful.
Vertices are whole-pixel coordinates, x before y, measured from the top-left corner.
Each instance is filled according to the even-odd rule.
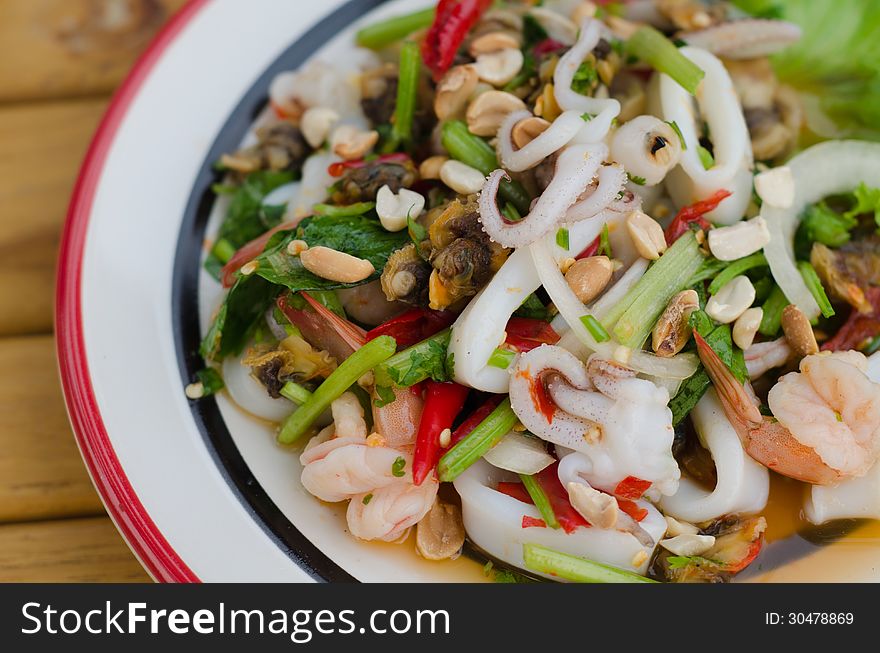
[[[880,384],[858,352],[801,361],[770,390],[774,418],[695,334],[700,358],[746,452],[759,463],[813,485],[864,475],[880,455]]]

